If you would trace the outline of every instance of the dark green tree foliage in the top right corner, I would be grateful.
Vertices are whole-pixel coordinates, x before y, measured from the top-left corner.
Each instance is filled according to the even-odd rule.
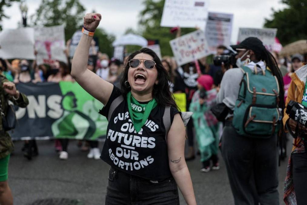
[[[306,39],[307,0],[282,0],[288,5],[284,10],[275,11],[272,19],[266,19],[264,26],[277,28],[277,38],[282,45]]]

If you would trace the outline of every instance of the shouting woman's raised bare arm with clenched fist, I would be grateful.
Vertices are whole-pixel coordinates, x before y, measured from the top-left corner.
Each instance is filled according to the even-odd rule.
[[[101,15],[98,13],[86,14],[84,28],[89,31],[95,31],[100,19]],[[72,59],[71,75],[84,90],[105,105],[111,96],[113,85],[87,69],[88,53],[92,39],[92,36],[82,34]]]

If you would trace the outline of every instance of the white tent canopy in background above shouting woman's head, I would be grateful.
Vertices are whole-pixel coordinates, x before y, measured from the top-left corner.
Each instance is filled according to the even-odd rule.
[[[147,40],[139,35],[135,34],[126,34],[120,37],[119,39],[116,39],[112,45],[115,46],[125,46],[125,45],[136,45],[136,46],[147,46],[148,42]]]

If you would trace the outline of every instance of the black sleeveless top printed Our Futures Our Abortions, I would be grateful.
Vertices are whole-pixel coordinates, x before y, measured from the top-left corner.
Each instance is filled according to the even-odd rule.
[[[121,91],[114,86],[109,101],[99,113],[107,117],[111,103],[119,95],[122,95]],[[136,133],[126,97],[123,97],[109,120],[100,158],[120,171],[145,179],[160,181],[171,177],[163,125],[165,107],[157,105],[141,131]],[[179,111],[171,107],[171,123],[177,113]]]

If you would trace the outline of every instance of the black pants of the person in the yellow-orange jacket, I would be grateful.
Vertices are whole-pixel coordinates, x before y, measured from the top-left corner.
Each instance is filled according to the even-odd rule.
[[[307,153],[295,153],[291,157],[297,205],[305,205],[307,203]]]

